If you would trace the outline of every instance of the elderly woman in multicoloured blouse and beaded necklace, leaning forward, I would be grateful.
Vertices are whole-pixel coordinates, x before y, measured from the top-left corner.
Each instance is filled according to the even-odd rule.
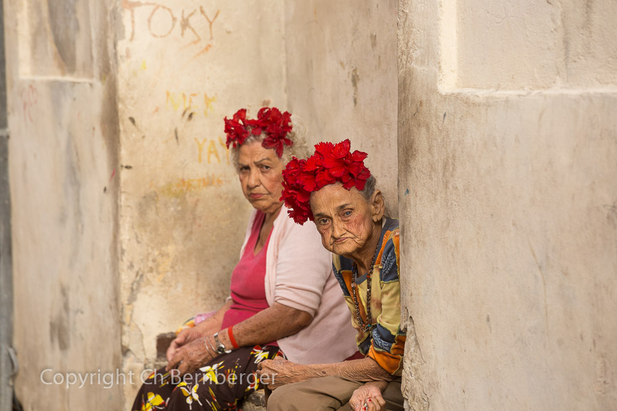
[[[403,410],[400,375],[398,221],[384,217],[383,196],[350,142],[319,143],[307,160],[283,171],[283,199],[296,223],[315,221],[365,358],[335,364],[295,364],[276,358],[259,365],[274,377],[268,410]]]

